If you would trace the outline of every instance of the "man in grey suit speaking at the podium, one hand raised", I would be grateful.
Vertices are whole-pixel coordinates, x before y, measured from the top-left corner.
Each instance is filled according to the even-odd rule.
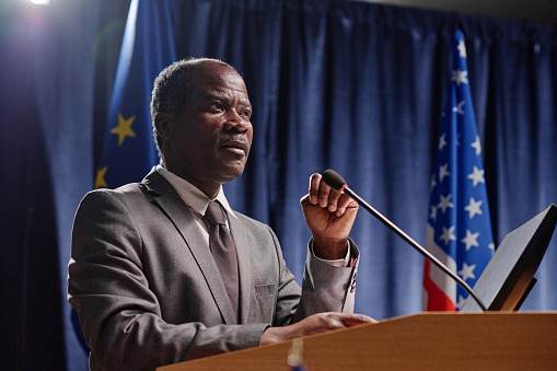
[[[151,114],[160,165],[139,184],[88,194],[76,215],[68,298],[91,369],[154,369],[372,321],[350,313],[353,200],[312,175],[301,200],[313,235],[302,294],[270,228],[230,209],[221,185],[242,174],[253,135],[247,91],[231,66],[166,68]],[[214,208],[233,237],[224,268]]]

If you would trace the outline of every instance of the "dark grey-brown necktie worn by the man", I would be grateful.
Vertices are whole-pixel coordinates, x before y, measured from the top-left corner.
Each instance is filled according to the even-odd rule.
[[[219,202],[209,201],[205,219],[207,219],[210,225],[209,250],[219,268],[234,314],[237,316],[239,278],[236,248],[234,240],[227,228],[227,216]]]

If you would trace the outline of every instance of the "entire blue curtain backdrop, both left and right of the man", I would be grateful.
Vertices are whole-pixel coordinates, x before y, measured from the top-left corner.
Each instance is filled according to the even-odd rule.
[[[66,302],[70,232],[93,187],[129,1],[7,3],[1,364],[86,369]],[[425,243],[456,27],[496,244],[557,204],[557,26],[332,0],[184,0],[174,14],[178,57],[221,58],[245,78],[254,148],[225,192],[237,210],[271,224],[300,280],[310,235],[299,199],[311,173],[327,167]],[[114,54],[100,54],[106,43]],[[364,210],[352,237],[362,253],[357,312],[381,320],[421,311],[421,255]],[[536,277],[523,308],[557,310],[557,237]]]

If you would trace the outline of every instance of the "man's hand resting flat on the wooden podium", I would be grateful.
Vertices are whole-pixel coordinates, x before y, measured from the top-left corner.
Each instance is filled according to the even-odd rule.
[[[263,333],[260,345],[286,341],[298,337],[320,334],[332,329],[351,327],[365,323],[376,323],[376,321],[367,315],[356,313],[317,313],[292,325],[267,327],[267,329]]]

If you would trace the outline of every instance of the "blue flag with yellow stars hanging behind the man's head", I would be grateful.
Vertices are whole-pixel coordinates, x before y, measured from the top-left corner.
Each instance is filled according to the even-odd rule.
[[[173,7],[173,0],[131,1],[95,188],[139,182],[159,162],[149,104],[154,79],[176,59]]]

